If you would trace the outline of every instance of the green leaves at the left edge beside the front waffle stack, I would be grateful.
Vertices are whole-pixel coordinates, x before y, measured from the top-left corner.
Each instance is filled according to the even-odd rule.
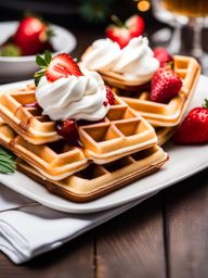
[[[12,174],[16,169],[16,160],[13,153],[0,147],[0,174]]]

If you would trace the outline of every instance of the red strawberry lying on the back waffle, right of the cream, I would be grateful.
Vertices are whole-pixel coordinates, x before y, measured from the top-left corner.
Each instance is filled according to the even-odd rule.
[[[182,87],[182,80],[172,70],[161,67],[153,76],[151,83],[151,101],[168,103]]]

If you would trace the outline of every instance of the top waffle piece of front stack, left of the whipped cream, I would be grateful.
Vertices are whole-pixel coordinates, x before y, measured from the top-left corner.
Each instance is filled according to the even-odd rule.
[[[35,86],[23,86],[13,91],[0,93],[0,115],[23,138],[34,144],[60,140],[55,123],[41,115],[37,106],[24,106],[36,102]]]

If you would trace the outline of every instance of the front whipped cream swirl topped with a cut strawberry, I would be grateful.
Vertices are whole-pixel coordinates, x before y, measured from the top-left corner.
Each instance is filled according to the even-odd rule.
[[[106,89],[101,76],[81,68],[83,76],[63,77],[54,83],[46,76],[40,79],[36,98],[42,114],[53,121],[87,119],[100,121],[109,110]]]

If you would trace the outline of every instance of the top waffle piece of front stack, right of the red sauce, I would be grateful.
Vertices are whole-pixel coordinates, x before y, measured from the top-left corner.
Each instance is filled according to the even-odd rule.
[[[103,123],[79,127],[86,155],[98,164],[117,160],[157,142],[154,128],[116,98]]]

